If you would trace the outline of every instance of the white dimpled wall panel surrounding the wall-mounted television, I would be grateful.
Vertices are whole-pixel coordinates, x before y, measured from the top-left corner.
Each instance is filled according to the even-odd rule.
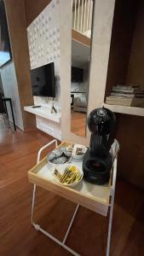
[[[31,69],[50,62],[55,63],[56,97],[55,108],[60,113],[60,1],[53,0],[27,27]],[[34,96],[35,105],[48,108],[52,99]],[[61,138],[61,126],[49,119],[36,118],[37,128]]]

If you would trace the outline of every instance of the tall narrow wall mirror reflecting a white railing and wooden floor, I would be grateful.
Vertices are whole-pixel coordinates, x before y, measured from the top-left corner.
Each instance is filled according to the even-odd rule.
[[[71,131],[86,136],[93,0],[72,0]]]

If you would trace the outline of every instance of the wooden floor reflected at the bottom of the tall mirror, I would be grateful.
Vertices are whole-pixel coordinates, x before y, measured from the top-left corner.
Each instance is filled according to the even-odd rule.
[[[75,112],[71,109],[71,131],[85,137],[86,113]]]

